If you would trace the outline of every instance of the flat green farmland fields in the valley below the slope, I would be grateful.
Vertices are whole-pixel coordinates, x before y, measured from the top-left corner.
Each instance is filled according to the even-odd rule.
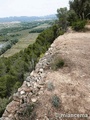
[[[30,44],[35,42],[40,33],[40,29],[41,31],[45,30],[47,27],[50,27],[52,23],[53,21],[34,21],[0,24],[1,56],[9,57],[21,50],[24,50]],[[32,32],[33,30],[34,32]],[[11,44],[11,41],[16,42]]]

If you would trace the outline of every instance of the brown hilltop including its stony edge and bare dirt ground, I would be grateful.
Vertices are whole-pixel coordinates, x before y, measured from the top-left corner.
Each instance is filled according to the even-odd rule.
[[[52,69],[55,58],[64,66]],[[55,62],[55,61],[54,61]],[[24,81],[1,120],[62,120],[61,114],[90,115],[90,31],[59,36]]]

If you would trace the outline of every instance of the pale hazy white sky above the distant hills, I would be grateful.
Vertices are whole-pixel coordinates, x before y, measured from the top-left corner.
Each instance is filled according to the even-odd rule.
[[[44,16],[68,7],[69,0],[0,0],[0,17]]]

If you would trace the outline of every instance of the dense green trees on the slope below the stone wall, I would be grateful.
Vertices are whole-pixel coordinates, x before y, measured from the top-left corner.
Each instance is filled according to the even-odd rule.
[[[0,58],[0,97],[10,97],[24,81],[25,73],[31,72],[41,54],[49,48],[56,38],[55,27],[43,31],[24,51]],[[0,111],[2,113],[2,110]]]

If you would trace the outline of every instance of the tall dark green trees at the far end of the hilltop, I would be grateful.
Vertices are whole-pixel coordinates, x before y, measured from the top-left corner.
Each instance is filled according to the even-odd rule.
[[[90,0],[70,0],[70,9],[65,8],[57,9],[58,24],[64,31],[68,26],[76,31],[82,30],[90,20]]]

